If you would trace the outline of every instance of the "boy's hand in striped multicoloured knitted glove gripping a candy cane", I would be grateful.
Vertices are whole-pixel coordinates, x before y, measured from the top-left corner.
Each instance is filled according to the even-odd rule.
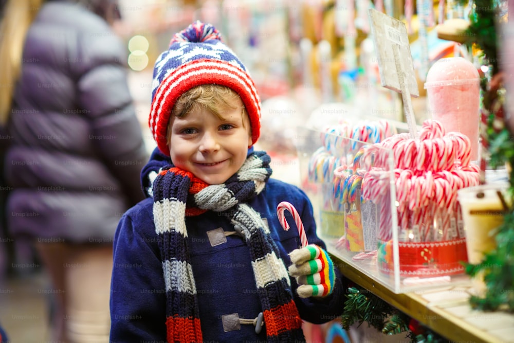
[[[292,250],[289,275],[296,278],[300,298],[326,297],[334,290],[334,264],[325,250],[315,244]]]

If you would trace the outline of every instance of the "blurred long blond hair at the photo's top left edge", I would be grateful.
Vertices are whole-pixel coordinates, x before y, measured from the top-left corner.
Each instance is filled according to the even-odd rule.
[[[43,0],[8,0],[0,26],[0,124],[9,120],[27,31]]]

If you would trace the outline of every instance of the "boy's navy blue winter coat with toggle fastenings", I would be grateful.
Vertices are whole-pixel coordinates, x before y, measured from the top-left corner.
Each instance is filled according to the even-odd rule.
[[[162,165],[163,155],[154,158],[143,169],[143,176]],[[159,161],[161,159],[162,161]],[[143,180],[148,185],[148,180]],[[285,231],[277,218],[276,208],[288,201],[301,214],[309,243],[325,247],[316,235],[313,207],[306,194],[296,186],[269,179],[261,194],[249,204],[267,220],[281,258],[291,264],[288,252],[300,247],[297,228]],[[166,291],[157,234],[153,223],[153,199],[147,198],[122,217],[114,240],[114,268],[111,293],[111,341],[166,341]],[[234,231],[230,218],[208,211],[187,217],[188,242],[199,303],[201,330],[205,341],[266,341],[265,329],[255,334],[252,325],[241,330],[224,332],[222,316],[238,313],[240,318],[255,318],[262,312],[255,286],[248,246],[240,236],[231,235],[227,242],[211,246],[207,231],[223,228]],[[337,269],[337,268],[336,268]],[[301,299],[296,295],[297,283],[291,278],[300,316],[312,323],[337,318],[343,310],[344,287],[336,270],[334,293],[322,300]]]

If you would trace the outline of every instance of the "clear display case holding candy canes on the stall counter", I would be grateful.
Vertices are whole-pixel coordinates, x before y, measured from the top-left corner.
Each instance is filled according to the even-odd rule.
[[[381,139],[410,141],[405,135]],[[398,156],[380,139],[306,128],[298,128],[296,146],[301,187],[328,252],[394,293],[470,282],[461,263],[466,239],[456,202],[456,190],[467,184],[446,188],[471,173],[459,156],[446,166],[427,165],[431,156]]]

